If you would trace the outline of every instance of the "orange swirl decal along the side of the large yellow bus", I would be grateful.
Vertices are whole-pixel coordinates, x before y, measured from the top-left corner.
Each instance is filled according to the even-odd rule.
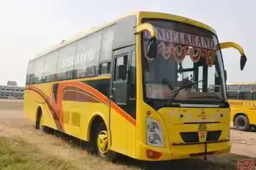
[[[51,86],[51,95],[47,97],[40,89],[35,86],[29,85],[26,87],[28,90],[38,93],[51,111],[51,115],[54,118],[57,130],[64,132],[63,124],[63,100],[78,101],[78,102],[90,102],[90,103],[104,103],[106,106],[111,106],[118,114],[124,119],[127,119],[132,125],[136,125],[135,119],[129,116],[122,108],[117,106],[113,101],[109,100],[107,96],[103,95],[97,89],[94,89],[88,84],[84,84],[80,81],[62,82],[57,87],[57,97],[54,97],[54,89]]]

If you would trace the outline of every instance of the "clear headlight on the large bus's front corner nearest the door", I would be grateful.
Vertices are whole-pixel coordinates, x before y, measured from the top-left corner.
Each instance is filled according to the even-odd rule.
[[[165,146],[160,123],[150,117],[146,118],[146,144],[156,147]]]

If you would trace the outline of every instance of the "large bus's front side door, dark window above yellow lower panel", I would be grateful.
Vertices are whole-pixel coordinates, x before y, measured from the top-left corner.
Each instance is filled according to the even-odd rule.
[[[135,117],[134,59],[135,46],[113,52],[110,100],[121,109],[110,109],[111,145],[123,152],[127,152],[128,114]]]

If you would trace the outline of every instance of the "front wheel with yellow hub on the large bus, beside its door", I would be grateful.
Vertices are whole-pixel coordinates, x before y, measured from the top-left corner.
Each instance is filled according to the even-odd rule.
[[[107,127],[101,123],[93,136],[93,148],[96,154],[104,159],[115,161],[118,158],[118,153],[108,149]]]

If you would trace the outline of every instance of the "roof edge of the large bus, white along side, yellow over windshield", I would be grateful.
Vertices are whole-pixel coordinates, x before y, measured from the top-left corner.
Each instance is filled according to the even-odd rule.
[[[62,40],[61,42],[59,42],[55,45],[51,45],[49,48],[46,48],[42,52],[38,53],[34,58],[30,59],[29,62],[32,61],[32,60],[38,59],[41,56],[45,56],[48,53],[56,51],[57,49],[62,48],[65,45],[69,45],[73,42],[76,42],[77,40],[80,40],[80,39],[88,36],[89,34],[93,34],[93,32],[97,32],[101,29],[104,29],[107,26],[111,26],[111,25],[115,24],[116,21],[118,21],[122,18],[126,18],[130,15],[137,15],[137,17],[138,17],[138,16],[143,16],[143,15],[149,15],[149,14],[160,15],[160,17],[163,17],[163,18],[170,18],[171,20],[174,20],[174,21],[180,21],[180,22],[188,23],[188,24],[191,24],[191,25],[194,25],[194,26],[199,26],[203,29],[207,29],[208,31],[213,32],[214,34],[216,34],[216,31],[212,27],[208,26],[205,23],[200,23],[199,21],[195,21],[191,18],[185,18],[185,17],[179,16],[179,15],[172,15],[172,14],[163,13],[163,12],[135,11],[135,12],[129,12],[127,15],[123,15],[119,18],[116,18],[114,21],[109,21],[107,23],[104,23],[101,26],[92,27],[92,28],[88,29],[86,32],[79,32],[79,33],[75,34],[74,37],[71,37],[68,40]],[[166,15],[168,15],[168,17],[166,17]]]

